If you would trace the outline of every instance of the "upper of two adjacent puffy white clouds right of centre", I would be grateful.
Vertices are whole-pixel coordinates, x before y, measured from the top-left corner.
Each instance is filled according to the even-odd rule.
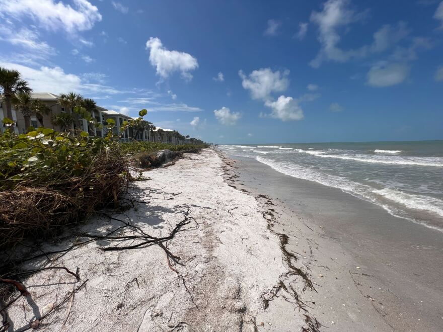
[[[273,92],[283,92],[289,86],[289,70],[273,72],[270,68],[254,70],[246,76],[242,70],[239,71],[242,78],[242,86],[251,93],[252,99],[269,100]]]

